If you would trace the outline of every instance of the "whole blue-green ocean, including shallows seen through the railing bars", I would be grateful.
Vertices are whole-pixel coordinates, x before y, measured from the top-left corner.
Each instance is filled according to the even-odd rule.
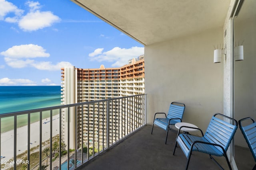
[[[61,105],[60,86],[0,86],[0,114]],[[58,114],[57,111],[53,115]],[[43,112],[42,118],[50,117]],[[13,116],[1,119],[1,132],[13,129]],[[31,123],[39,121],[39,113],[32,113]],[[17,117],[18,127],[27,125],[27,115]]]

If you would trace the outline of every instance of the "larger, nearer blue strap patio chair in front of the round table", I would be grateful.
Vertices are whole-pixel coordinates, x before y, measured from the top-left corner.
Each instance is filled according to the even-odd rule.
[[[226,121],[223,121],[222,119],[217,118],[216,115],[220,115],[221,117],[230,119],[231,121],[234,122],[235,125],[228,123]],[[184,127],[184,126],[182,126],[182,127]],[[182,127],[180,127],[180,129]],[[205,135],[203,134],[201,129],[191,127],[192,129],[200,130],[203,137],[198,137],[198,136],[189,135],[189,134],[180,134],[180,129],[179,129],[178,135],[176,138],[173,155],[175,153],[175,149],[176,149],[177,143],[178,143],[180,148],[182,149],[182,151],[188,158],[186,170],[188,169],[188,164],[190,161],[192,151],[198,151],[198,152],[209,154],[210,158],[220,168],[222,168],[222,167],[212,157],[212,155],[224,156],[228,163],[229,169],[232,170],[229,160],[228,160],[228,157],[226,155],[226,151],[228,150],[228,147],[234,137],[234,134],[236,133],[237,127],[238,127],[238,123],[235,119],[232,119],[231,117],[222,115],[220,113],[216,113],[212,117],[210,124],[208,125],[208,128],[206,129]],[[223,168],[222,168],[222,170],[223,170]]]

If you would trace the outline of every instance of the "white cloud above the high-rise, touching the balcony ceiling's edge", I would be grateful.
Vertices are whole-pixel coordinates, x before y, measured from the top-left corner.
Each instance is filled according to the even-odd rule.
[[[114,47],[110,51],[106,51],[103,53],[102,51],[98,55],[90,55],[92,54],[90,53],[89,54],[90,60],[98,61],[98,62],[102,62],[102,61],[114,62],[114,64],[112,64],[111,66],[119,67],[119,66],[128,64],[128,60],[132,58],[137,58],[138,56],[144,54],[144,47],[131,47],[130,49],[125,49],[125,48],[121,49],[120,47]]]

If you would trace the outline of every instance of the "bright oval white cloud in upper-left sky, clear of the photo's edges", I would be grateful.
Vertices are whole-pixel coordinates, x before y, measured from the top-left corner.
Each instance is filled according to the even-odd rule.
[[[36,31],[44,27],[50,27],[58,21],[60,21],[60,18],[52,14],[52,12],[40,12],[37,10],[36,12],[30,12],[26,16],[23,16],[18,25],[24,31]]]

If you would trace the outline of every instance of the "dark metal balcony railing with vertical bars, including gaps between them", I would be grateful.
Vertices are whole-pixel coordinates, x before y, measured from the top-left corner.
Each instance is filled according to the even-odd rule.
[[[74,169],[145,124],[146,94],[4,113],[0,169]]]

